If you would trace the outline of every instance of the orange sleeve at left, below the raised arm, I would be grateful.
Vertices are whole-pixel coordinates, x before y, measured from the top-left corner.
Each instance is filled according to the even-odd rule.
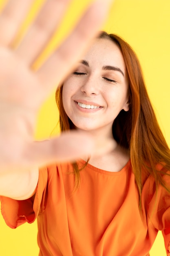
[[[14,200],[0,196],[1,213],[6,224],[15,229],[25,222],[33,223],[40,211],[43,211],[46,201],[48,180],[47,168],[39,170],[39,180],[36,194],[26,200]]]

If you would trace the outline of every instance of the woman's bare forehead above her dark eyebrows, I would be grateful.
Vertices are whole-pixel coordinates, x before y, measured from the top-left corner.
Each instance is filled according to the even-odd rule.
[[[97,38],[88,48],[84,56],[84,60],[88,61],[89,65],[114,65],[126,70],[123,55],[119,47],[111,39]]]

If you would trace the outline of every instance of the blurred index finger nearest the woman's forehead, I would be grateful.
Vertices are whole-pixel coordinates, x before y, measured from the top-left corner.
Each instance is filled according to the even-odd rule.
[[[91,40],[96,37],[112,2],[113,0],[93,2],[71,34],[37,70],[45,95],[73,69],[75,62],[84,53]]]

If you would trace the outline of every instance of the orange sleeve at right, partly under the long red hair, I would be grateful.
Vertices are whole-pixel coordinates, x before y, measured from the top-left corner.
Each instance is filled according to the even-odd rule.
[[[170,189],[170,171],[164,164],[157,164],[157,171],[167,188]],[[144,182],[142,190],[143,211],[147,216],[148,234],[154,241],[155,234],[161,231],[164,238],[166,253],[170,256],[170,193],[161,185],[156,191],[155,178],[150,175]]]

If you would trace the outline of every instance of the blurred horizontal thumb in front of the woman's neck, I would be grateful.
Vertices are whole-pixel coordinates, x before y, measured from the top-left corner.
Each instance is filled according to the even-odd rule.
[[[60,136],[35,141],[26,147],[24,159],[29,165],[46,165],[54,162],[75,161],[91,155],[95,150],[95,141],[86,132],[63,132]]]

